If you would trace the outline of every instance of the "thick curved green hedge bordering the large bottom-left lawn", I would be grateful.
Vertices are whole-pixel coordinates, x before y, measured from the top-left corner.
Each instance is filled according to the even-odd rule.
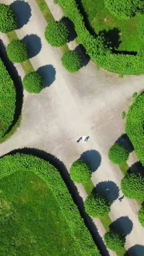
[[[53,195],[56,196],[59,207],[75,238],[75,242],[79,246],[79,255],[100,256],[101,254],[86,228],[79,210],[58,170],[49,162],[33,155],[16,153],[14,155],[5,155],[0,159],[0,178],[21,169],[34,172],[52,189]]]

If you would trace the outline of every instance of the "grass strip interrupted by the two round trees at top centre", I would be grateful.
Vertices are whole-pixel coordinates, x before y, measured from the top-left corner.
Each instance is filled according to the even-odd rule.
[[[48,24],[51,21],[55,21],[45,0],[35,0],[35,2],[38,4],[38,7],[39,7],[41,13],[43,13],[43,16]],[[61,48],[62,54],[64,54],[65,51],[69,50],[67,44],[62,45],[60,48]]]

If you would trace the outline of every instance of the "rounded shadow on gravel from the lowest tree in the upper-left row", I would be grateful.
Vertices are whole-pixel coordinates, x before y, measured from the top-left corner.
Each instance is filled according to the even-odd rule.
[[[56,69],[52,65],[39,67],[37,72],[43,77],[45,87],[49,87],[56,79]]]

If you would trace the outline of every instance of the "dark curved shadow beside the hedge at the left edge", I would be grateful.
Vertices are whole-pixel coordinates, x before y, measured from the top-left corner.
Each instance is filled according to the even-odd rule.
[[[11,126],[9,127],[8,131],[5,133],[7,134],[10,132],[12,127],[17,123],[17,120],[19,119],[21,115],[21,109],[22,109],[22,102],[23,102],[23,86],[22,86],[22,81],[21,77],[19,76],[16,67],[14,64],[8,59],[7,56],[7,51],[5,48],[5,45],[3,44],[2,40],[0,39],[0,57],[7,68],[7,71],[11,77],[11,79],[14,82],[15,89],[16,89],[16,109],[15,109],[15,114],[14,114],[14,120]]]

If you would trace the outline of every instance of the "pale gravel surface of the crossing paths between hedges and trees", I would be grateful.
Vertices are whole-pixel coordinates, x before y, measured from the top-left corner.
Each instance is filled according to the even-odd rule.
[[[5,3],[2,0],[0,2]],[[12,2],[7,0],[7,3]],[[32,7],[31,19],[16,33],[19,38],[31,33],[41,38],[42,49],[31,59],[32,65],[35,69],[53,65],[56,68],[56,80],[39,95],[25,92],[21,127],[8,141],[1,144],[0,154],[16,148],[39,148],[56,155],[69,170],[72,162],[83,152],[98,150],[101,165],[92,174],[94,185],[109,180],[119,186],[122,173],[118,166],[111,164],[107,152],[124,132],[125,121],[121,115],[123,110],[128,109],[133,93],[144,88],[143,75],[125,75],[120,79],[117,74],[103,69],[96,71],[92,62],[79,73],[69,74],[61,65],[61,50],[52,48],[44,38],[46,21],[35,1],[28,2]],[[19,69],[18,66],[17,68]],[[90,136],[89,141],[77,144],[76,139],[82,135]],[[135,157],[134,160],[131,157],[130,162],[134,161]],[[86,194],[82,190],[81,195],[85,199]],[[126,198],[121,203],[115,201],[111,207],[112,220],[128,216],[133,222],[133,230],[127,236],[125,244],[127,249],[136,244],[144,245],[144,229],[137,219],[138,210],[137,203]],[[101,231],[100,224],[97,220],[96,222],[99,232],[103,233],[104,230]]]

